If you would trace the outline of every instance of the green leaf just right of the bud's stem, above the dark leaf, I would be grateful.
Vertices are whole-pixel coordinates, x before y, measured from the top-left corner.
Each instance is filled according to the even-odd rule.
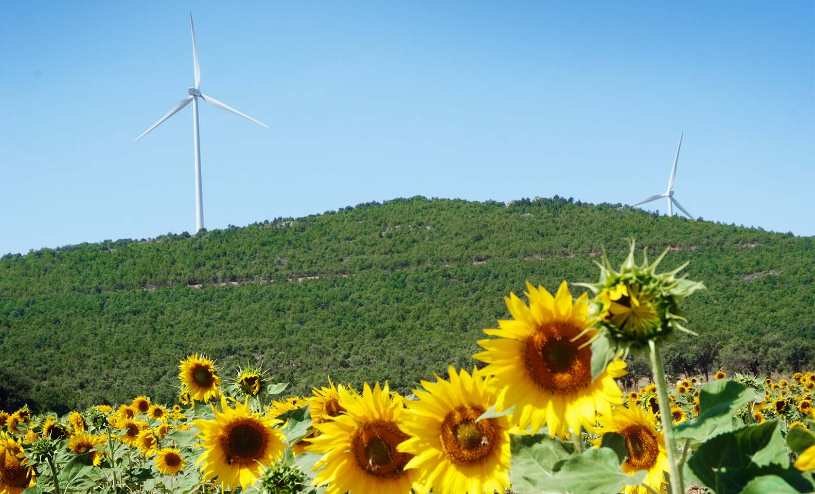
[[[676,439],[694,439],[702,442],[721,431],[730,430],[733,414],[751,401],[760,401],[764,395],[738,382],[722,379],[709,382],[699,393],[699,417],[674,428]]]

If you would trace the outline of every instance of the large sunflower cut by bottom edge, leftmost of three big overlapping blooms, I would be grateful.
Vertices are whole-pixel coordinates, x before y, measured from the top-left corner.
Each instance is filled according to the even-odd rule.
[[[315,424],[320,434],[306,451],[323,455],[313,483],[328,483],[326,494],[407,494],[418,479],[416,469],[404,470],[412,455],[397,446],[407,439],[399,429],[404,413],[402,397],[377,382],[366,382],[363,393],[341,387],[339,404],[346,409],[331,421]]]

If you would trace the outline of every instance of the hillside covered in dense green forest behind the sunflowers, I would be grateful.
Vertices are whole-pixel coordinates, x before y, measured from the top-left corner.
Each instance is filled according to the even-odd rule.
[[[526,280],[594,281],[636,237],[707,290],[673,373],[815,367],[815,239],[562,199],[397,199],[248,227],[41,249],[0,260],[0,408],[174,400],[178,360],[223,380],[262,363],[289,390],[469,367]],[[573,287],[575,295],[582,290]],[[635,357],[634,377],[645,372]]]

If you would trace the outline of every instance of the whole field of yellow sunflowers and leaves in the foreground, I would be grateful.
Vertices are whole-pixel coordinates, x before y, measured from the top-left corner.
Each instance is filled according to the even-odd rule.
[[[813,492],[815,373],[667,382],[663,345],[692,333],[681,302],[704,286],[657,273],[663,256],[604,258],[575,284],[593,298],[527,283],[471,368],[409,395],[327,379],[287,397],[265,368],[196,354],[175,404],[0,411],[0,494]],[[653,380],[624,393],[632,354]]]

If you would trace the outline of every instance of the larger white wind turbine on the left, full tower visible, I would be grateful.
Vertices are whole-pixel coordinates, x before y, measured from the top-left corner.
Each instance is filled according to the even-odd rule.
[[[200,84],[201,84],[201,69],[200,65],[198,64],[198,49],[196,48],[196,29],[192,26],[192,12],[190,12],[190,31],[192,31],[192,64],[193,68],[195,68],[196,74],[196,85],[194,87],[188,87],[187,93],[189,94],[186,98],[182,99],[178,102],[177,105],[174,106],[164,117],[161,117],[161,120],[156,121],[148,130],[142,132],[142,135],[139,135],[136,139],[133,139],[133,142],[142,139],[145,135],[148,135],[148,132],[155,129],[157,126],[161,125],[161,122],[167,120],[168,118],[172,117],[176,114],[181,108],[187,106],[192,101],[192,147],[195,150],[196,154],[196,232],[200,231],[201,228],[204,227],[204,198],[201,193],[201,150],[200,150],[200,139],[198,138],[198,99],[203,99],[207,103],[213,105],[216,108],[221,108],[222,110],[226,110],[227,112],[235,113],[239,117],[244,117],[249,121],[253,121],[259,126],[269,127],[266,124],[255,120],[244,113],[237,111],[235,108],[231,108],[227,104],[224,104],[218,99],[214,99],[212,96],[205,95],[200,91]]]

